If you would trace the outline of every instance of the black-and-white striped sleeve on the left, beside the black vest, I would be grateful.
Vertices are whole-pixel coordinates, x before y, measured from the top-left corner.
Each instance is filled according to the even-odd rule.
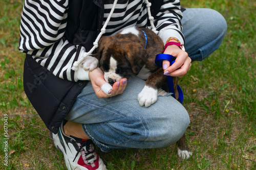
[[[56,77],[75,82],[89,80],[89,71],[81,67],[76,71],[71,69],[86,49],[63,37],[67,26],[68,2],[25,0],[20,19],[19,51],[31,55]]]

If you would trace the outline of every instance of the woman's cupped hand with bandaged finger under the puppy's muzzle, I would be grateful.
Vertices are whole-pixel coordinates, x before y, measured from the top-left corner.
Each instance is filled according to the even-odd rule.
[[[91,80],[93,89],[96,93],[96,95],[98,96],[98,98],[109,98],[111,96],[114,95],[118,95],[123,93],[123,90],[125,89],[126,85],[127,85],[127,79],[121,79],[119,82],[115,82],[113,84],[113,89],[109,90],[109,95],[105,94],[102,90],[101,90],[101,86],[103,84],[106,83],[106,81],[104,80],[104,75],[103,72],[99,69],[96,68],[93,71],[89,72],[89,78]]]

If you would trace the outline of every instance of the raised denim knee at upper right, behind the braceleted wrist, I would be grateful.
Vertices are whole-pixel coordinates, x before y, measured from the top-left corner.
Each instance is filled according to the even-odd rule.
[[[217,50],[227,31],[225,18],[213,9],[186,9],[181,21],[186,52],[193,61],[201,61]]]

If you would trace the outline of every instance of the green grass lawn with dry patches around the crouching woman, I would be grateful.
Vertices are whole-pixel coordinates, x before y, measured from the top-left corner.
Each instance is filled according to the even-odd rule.
[[[108,169],[256,169],[256,36],[255,1],[181,1],[185,7],[212,8],[227,20],[220,48],[194,62],[180,79],[191,124],[186,131],[193,151],[188,160],[177,147],[122,149],[102,153]],[[66,169],[44,123],[23,91],[23,61],[17,51],[23,1],[1,1],[0,135],[8,115],[8,166],[0,144],[0,169]]]

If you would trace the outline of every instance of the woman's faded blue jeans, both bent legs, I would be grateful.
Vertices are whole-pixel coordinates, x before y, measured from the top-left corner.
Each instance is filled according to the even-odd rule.
[[[185,48],[192,60],[214,52],[226,32],[226,21],[210,9],[183,12]],[[81,91],[67,120],[81,123],[87,134],[104,151],[114,148],[163,148],[184,134],[190,121],[186,109],[172,96],[159,96],[155,104],[140,107],[137,95],[145,81],[132,77],[124,92],[98,99],[91,83]]]

